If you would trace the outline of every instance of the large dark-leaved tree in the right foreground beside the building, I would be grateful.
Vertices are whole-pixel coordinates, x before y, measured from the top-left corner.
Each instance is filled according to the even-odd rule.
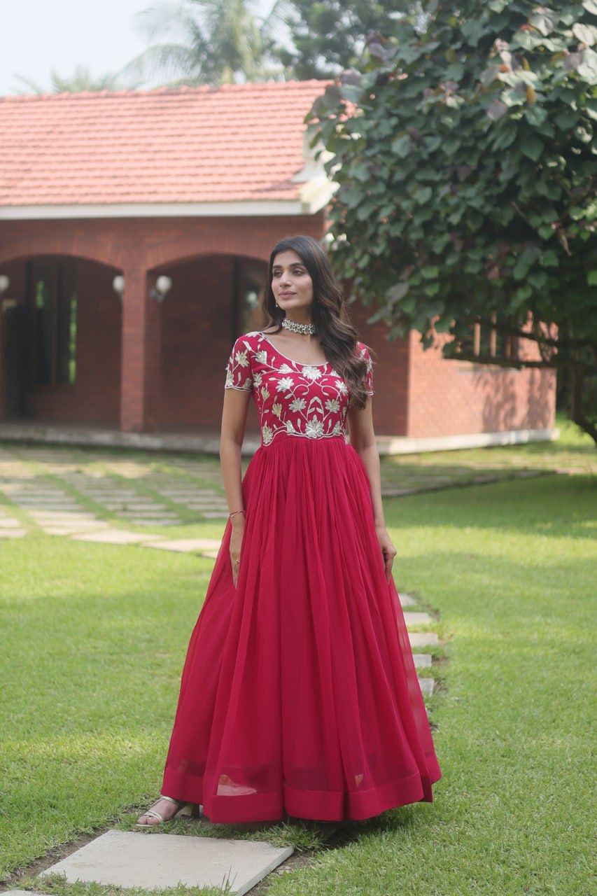
[[[314,107],[339,184],[333,259],[393,335],[568,371],[597,443],[597,0],[427,14],[371,39]]]

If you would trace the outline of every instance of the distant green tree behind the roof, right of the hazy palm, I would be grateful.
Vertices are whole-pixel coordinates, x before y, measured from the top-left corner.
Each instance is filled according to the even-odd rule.
[[[331,78],[356,65],[369,34],[394,30],[411,4],[404,0],[292,0],[286,22],[291,47],[277,47],[294,77]]]

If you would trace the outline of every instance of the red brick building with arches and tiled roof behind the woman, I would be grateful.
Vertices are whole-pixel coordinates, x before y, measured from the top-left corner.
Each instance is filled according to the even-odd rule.
[[[0,438],[217,433],[271,247],[325,232],[332,188],[303,124],[323,88],[0,99]],[[396,450],[550,437],[552,372],[446,361],[353,316]]]

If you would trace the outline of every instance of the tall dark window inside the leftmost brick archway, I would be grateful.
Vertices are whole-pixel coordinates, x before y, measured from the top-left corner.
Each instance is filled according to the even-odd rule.
[[[32,380],[35,385],[72,385],[76,379],[77,293],[74,265],[29,264]]]

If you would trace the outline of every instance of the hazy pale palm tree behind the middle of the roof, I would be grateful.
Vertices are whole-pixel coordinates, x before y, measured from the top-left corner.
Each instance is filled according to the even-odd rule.
[[[271,51],[287,0],[259,19],[255,0],[177,0],[141,15],[156,44],[127,66],[146,79],[163,73],[170,83],[225,84],[272,80],[280,73]]]

